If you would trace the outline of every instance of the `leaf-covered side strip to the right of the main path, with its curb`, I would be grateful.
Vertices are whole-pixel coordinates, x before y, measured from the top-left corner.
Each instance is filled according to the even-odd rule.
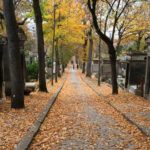
[[[118,95],[112,95],[111,86],[107,83],[101,83],[97,86],[97,79],[82,79],[99,95],[105,96],[105,101],[110,103],[126,118],[136,124],[147,136],[150,137],[150,101],[132,93],[120,90]]]

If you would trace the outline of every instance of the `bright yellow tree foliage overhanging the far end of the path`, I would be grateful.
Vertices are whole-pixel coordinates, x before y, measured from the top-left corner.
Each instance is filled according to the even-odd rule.
[[[65,59],[68,55],[73,54],[83,41],[82,18],[84,11],[82,11],[81,4],[74,0],[47,0],[44,3],[43,18],[44,18],[44,33],[45,41],[52,51],[50,55],[54,58],[56,55],[56,74],[55,80],[57,81],[57,72],[59,73],[59,57],[61,57],[62,65],[64,66]],[[64,49],[64,50],[63,50]],[[63,56],[63,57],[62,57]],[[68,57],[68,58],[67,58]],[[52,76],[53,84],[53,76]]]

